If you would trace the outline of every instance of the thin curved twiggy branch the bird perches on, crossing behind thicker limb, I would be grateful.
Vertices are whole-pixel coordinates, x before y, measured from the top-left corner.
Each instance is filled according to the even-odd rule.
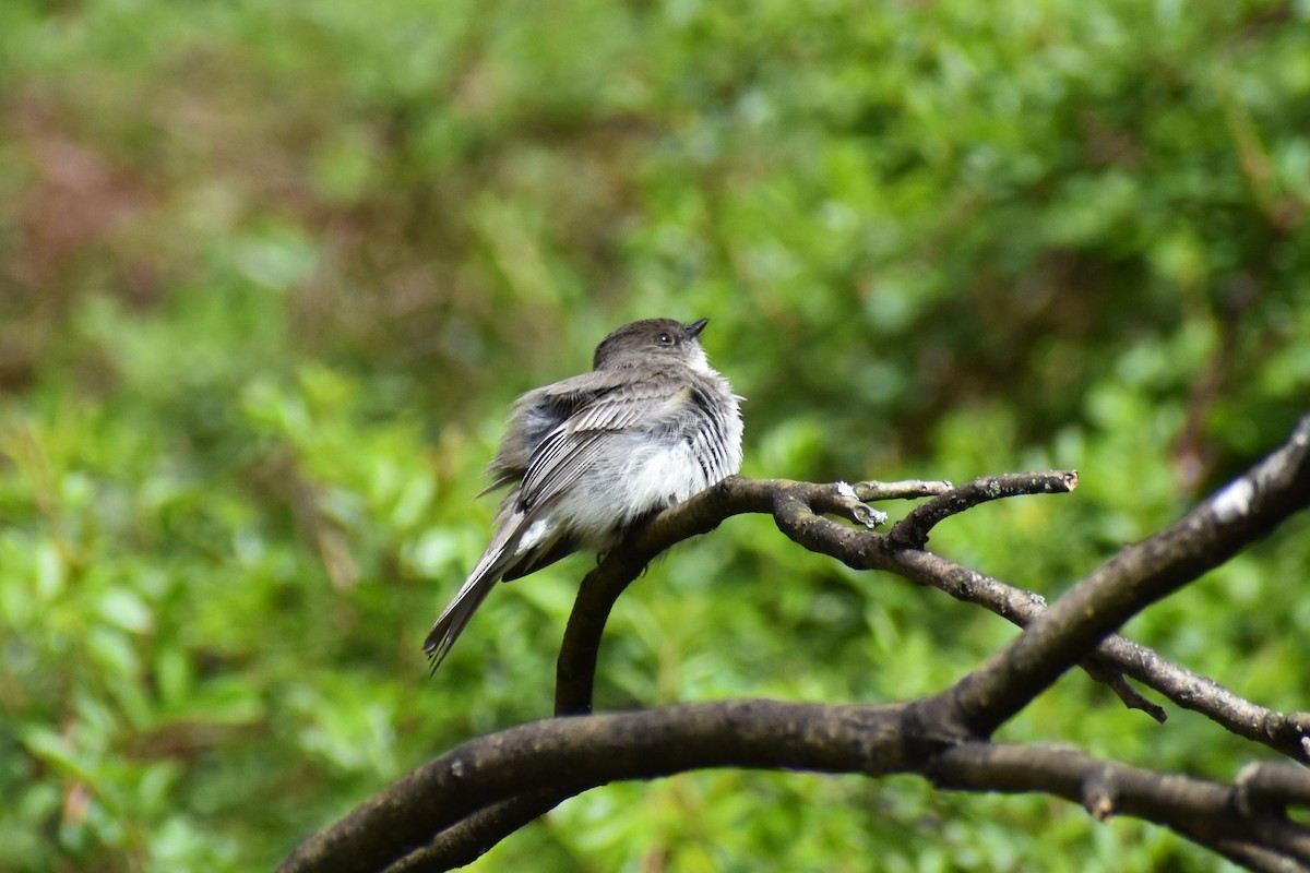
[[[858,483],[853,490],[861,500],[934,495],[934,500],[917,508],[927,510],[916,517],[909,527],[914,538],[926,538],[937,522],[980,503],[1024,493],[1051,493],[1069,487],[1077,487],[1077,476],[1072,471],[985,476],[958,488],[945,482],[899,482]],[[779,529],[806,548],[837,558],[857,569],[884,569],[920,585],[938,588],[956,599],[984,606],[1019,627],[1028,627],[1047,611],[1040,594],[962,567],[941,555],[888,547],[891,534],[884,538],[823,518],[820,512],[855,517],[849,497],[840,495],[838,490],[840,483],[735,476],[660,513],[647,527],[607,555],[583,580],[565,631],[557,665],[555,713],[591,712],[596,657],[605,622],[620,594],[641,576],[646,564],[672,544],[713,530],[735,514],[770,513]],[[1089,658],[1079,662],[1127,705],[1142,709],[1157,721],[1163,721],[1165,712],[1136,694],[1123,675],[1132,677],[1183,708],[1210,717],[1238,736],[1310,763],[1310,713],[1284,715],[1259,707],[1222,685],[1170,664],[1155,652],[1119,636],[1106,639]]]

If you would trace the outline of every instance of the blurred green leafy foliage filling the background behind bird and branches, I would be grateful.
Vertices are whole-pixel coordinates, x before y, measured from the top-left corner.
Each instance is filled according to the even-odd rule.
[[[748,474],[1079,469],[934,537],[1048,597],[1310,397],[1300,0],[5,0],[0,110],[0,869],[266,869],[548,715],[590,559],[432,681],[418,644],[508,402],[631,318],[710,317]],[[1307,533],[1129,633],[1307,708]],[[738,518],[624,598],[600,704],[904,699],[1013,632]],[[1081,674],[1002,737],[1267,757]],[[1216,864],[1043,798],[711,772],[478,869]]]

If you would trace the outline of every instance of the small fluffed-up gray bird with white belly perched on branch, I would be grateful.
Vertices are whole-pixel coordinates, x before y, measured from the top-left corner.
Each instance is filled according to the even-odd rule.
[[[604,551],[637,521],[741,469],[740,398],[696,339],[707,321],[624,325],[596,347],[591,373],[515,401],[482,493],[512,490],[491,543],[423,641],[434,670],[496,581]]]

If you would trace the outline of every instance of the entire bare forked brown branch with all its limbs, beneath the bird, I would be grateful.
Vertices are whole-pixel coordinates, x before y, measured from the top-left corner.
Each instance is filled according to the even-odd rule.
[[[558,664],[557,711],[569,717],[464,743],[307,840],[280,869],[448,869],[587,788],[702,767],[920,772],[947,788],[1043,792],[1077,801],[1098,818],[1125,814],[1158,822],[1251,869],[1310,868],[1310,828],[1286,815],[1289,806],[1310,806],[1306,771],[1260,764],[1221,784],[1096,760],[1077,750],[986,741],[1081,662],[1112,687],[1121,686],[1116,690],[1129,705],[1136,692],[1124,675],[1234,733],[1310,759],[1306,713],[1284,716],[1256,707],[1112,635],[1128,616],[1310,503],[1310,416],[1246,475],[1176,525],[1124,548],[1049,609],[1036,594],[921,548],[934,525],[965,508],[1076,484],[1076,476],[1062,472],[992,476],[954,490],[946,483],[728,479],[650,520],[588,573]],[[925,493],[935,496],[891,534],[870,533],[883,517],[865,501]],[[768,512],[806,548],[941,588],[1027,630],[951,688],[907,704],[738,700],[579,717],[591,711],[596,652],[618,594],[656,554],[741,512]]]

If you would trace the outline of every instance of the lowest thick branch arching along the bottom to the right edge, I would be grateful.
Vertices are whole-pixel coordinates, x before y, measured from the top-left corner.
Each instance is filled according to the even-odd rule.
[[[279,869],[371,873],[403,857],[434,830],[496,801],[525,793],[567,797],[609,781],[709,767],[922,772],[946,788],[1043,792],[1082,804],[1100,819],[1119,814],[1158,822],[1217,851],[1220,843],[1233,851],[1246,846],[1310,863],[1310,828],[1282,811],[1282,805],[1310,796],[1310,772],[1264,766],[1222,785],[1096,760],[1077,750],[985,742],[914,760],[905,754],[916,745],[907,712],[899,705],[738,700],[511,728],[472,739],[393,783],[304,843]],[[419,855],[401,869],[443,866],[432,855]]]

